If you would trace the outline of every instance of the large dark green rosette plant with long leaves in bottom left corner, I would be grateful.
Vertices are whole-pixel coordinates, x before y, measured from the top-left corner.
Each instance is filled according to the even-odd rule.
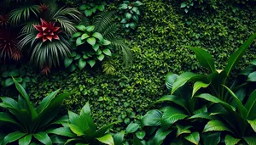
[[[20,92],[18,101],[13,98],[1,97],[0,107],[9,112],[1,112],[0,121],[8,126],[9,129],[6,132],[10,132],[3,138],[2,145],[18,140],[20,145],[28,145],[34,142],[32,138],[43,144],[52,144],[48,131],[53,129],[54,125],[61,124],[65,120],[64,118],[55,120],[55,118],[61,108],[61,102],[70,93],[56,96],[60,90],[51,92],[36,109],[25,89],[15,79],[14,82]]]

